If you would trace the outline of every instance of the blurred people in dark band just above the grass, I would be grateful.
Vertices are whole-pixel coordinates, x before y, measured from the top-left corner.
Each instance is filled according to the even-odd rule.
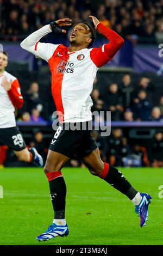
[[[26,139],[26,142],[28,142],[28,147],[37,149],[45,162],[51,139],[45,138],[40,130],[34,133],[32,139]],[[124,130],[115,128],[112,129],[109,137],[101,137],[98,131],[92,131],[103,161],[107,161],[112,166],[163,167],[163,133],[161,131],[157,131],[153,138],[150,141],[148,140],[148,147],[141,145],[143,143],[131,142],[123,132]],[[18,162],[13,151],[5,145],[0,146],[0,155],[0,167],[1,165],[7,167],[29,166],[28,163]],[[67,166],[84,167],[84,164],[74,157]]]

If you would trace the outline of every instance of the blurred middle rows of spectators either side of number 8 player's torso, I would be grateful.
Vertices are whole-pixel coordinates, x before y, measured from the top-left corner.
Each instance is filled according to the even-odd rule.
[[[159,97],[156,97],[156,88],[150,78],[140,77],[135,82],[130,74],[124,74],[120,82],[114,79],[102,87],[101,80],[96,77],[91,94],[92,112],[111,111],[112,121],[163,122],[163,90],[159,91]],[[33,81],[29,89],[23,92],[24,106],[17,113],[18,121],[52,120],[52,110],[55,110],[53,100],[48,95],[49,100],[45,102],[45,92],[41,87],[39,91],[39,83]],[[50,88],[48,90],[51,94]],[[51,109],[50,113],[47,108]]]

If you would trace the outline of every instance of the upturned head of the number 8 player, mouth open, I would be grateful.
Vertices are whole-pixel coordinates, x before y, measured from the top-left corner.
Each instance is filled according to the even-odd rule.
[[[79,23],[73,27],[70,34],[71,44],[86,44],[91,42],[90,28],[84,23]]]

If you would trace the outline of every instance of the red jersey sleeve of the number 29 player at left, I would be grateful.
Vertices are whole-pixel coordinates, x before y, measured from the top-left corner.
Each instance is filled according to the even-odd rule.
[[[12,82],[8,95],[14,107],[21,108],[23,106],[23,96],[17,79]]]

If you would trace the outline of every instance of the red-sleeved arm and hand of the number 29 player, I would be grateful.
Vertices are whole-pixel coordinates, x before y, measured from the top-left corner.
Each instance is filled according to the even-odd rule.
[[[8,93],[14,107],[21,108],[23,106],[23,97],[21,95],[21,89],[18,80],[15,79],[14,81],[7,81],[7,78],[4,77],[1,86]]]

